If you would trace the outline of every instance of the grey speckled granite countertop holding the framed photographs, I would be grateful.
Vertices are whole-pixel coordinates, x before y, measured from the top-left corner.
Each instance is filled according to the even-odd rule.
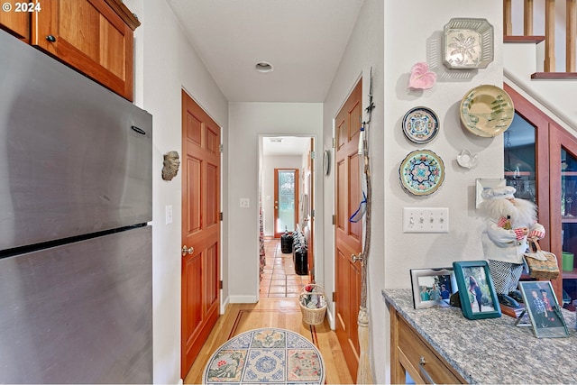
[[[415,309],[411,289],[382,296],[470,383],[577,383],[574,313],[563,309],[569,337],[536,338],[511,316],[470,320],[459,307]]]

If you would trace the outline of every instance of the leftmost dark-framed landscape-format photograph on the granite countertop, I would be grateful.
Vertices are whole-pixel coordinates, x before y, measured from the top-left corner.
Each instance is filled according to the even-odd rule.
[[[457,291],[453,268],[411,269],[413,306],[448,307],[451,294]]]

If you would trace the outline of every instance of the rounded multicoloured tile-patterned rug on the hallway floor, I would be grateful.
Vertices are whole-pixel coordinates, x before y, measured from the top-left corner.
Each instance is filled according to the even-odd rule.
[[[302,335],[279,328],[236,335],[216,350],[203,383],[323,384],[325,363]]]

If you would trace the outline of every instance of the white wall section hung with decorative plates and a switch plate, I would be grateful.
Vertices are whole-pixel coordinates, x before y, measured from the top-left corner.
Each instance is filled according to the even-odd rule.
[[[416,14],[426,15],[426,23],[421,23],[420,28],[404,28],[407,18]],[[445,69],[439,62],[443,27],[453,17],[485,18],[494,27],[493,62],[486,69],[469,71],[467,77],[463,77],[463,71]],[[382,173],[378,174],[386,186],[384,287],[410,288],[411,268],[451,266],[453,261],[484,258],[481,225],[475,216],[475,179],[502,178],[503,136],[481,138],[464,130],[459,105],[472,87],[481,84],[502,87],[502,1],[385,2],[385,25],[386,155]],[[437,73],[438,81],[432,89],[409,91],[408,72],[418,61],[427,61]],[[440,133],[426,145],[409,142],[400,129],[403,115],[417,105],[432,108],[440,119]],[[444,160],[446,172],[443,186],[435,194],[421,198],[406,193],[398,182],[399,162],[418,148],[435,151]],[[479,165],[472,170],[456,164],[455,158],[464,148],[479,154]],[[404,206],[448,207],[450,233],[403,234],[400,224]],[[382,301],[381,308],[388,330],[389,313]],[[389,362],[389,333],[386,336],[386,362]]]

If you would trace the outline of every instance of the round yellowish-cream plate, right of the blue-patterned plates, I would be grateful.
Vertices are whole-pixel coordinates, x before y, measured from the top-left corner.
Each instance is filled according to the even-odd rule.
[[[474,87],[461,101],[461,122],[467,130],[485,138],[504,133],[513,122],[515,106],[503,88]]]

